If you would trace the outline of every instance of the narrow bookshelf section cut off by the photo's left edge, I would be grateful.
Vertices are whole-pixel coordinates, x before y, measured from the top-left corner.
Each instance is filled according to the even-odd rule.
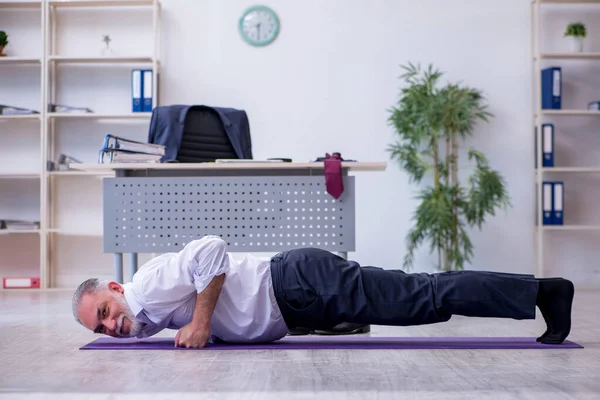
[[[9,45],[4,49],[7,56],[0,57],[4,77],[0,104],[40,112],[0,115],[0,156],[4,161],[0,165],[0,219],[41,218],[44,24],[42,1],[0,1],[0,29],[9,34]],[[19,34],[15,38],[13,32],[22,32],[33,44],[27,48],[13,46],[19,42]],[[23,151],[25,154],[15,154]],[[42,238],[42,229],[0,229],[0,277],[39,276]]]

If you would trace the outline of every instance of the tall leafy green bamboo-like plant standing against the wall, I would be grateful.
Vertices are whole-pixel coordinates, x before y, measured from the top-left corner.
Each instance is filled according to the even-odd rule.
[[[476,123],[492,114],[480,91],[453,83],[440,87],[443,74],[431,65],[425,71],[413,64],[402,68],[406,85],[389,116],[397,140],[388,151],[411,181],[420,183],[427,174],[432,178],[417,195],[404,268],[412,266],[414,251],[428,241],[430,253],[437,252],[436,270],[461,270],[474,249],[467,228],[481,229],[487,215],[510,206],[503,177],[480,151],[468,148],[472,172],[462,180],[458,173],[461,145]]]

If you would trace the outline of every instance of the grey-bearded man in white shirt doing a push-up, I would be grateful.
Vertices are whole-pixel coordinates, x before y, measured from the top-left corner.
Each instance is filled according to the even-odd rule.
[[[537,340],[562,343],[571,329],[573,284],[562,278],[477,271],[407,274],[361,267],[306,248],[268,261],[235,260],[217,236],[145,263],[132,282],[89,279],[73,296],[77,321],[96,333],[147,337],[177,329],[175,346],[211,341],[269,342],[289,329],[340,323],[420,325],[452,315],[534,319],[547,324]]]

